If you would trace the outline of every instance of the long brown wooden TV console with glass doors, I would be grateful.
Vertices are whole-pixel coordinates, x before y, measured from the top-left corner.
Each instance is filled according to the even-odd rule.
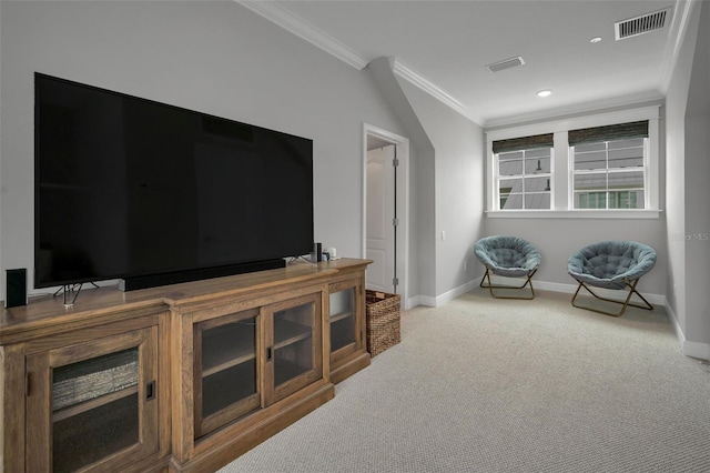
[[[333,399],[334,382],[369,364],[369,263],[100,288],[68,309],[61,298],[41,296],[3,310],[0,471],[220,469]],[[332,301],[338,313],[331,314]],[[339,324],[333,350],[331,323]],[[83,388],[60,400],[64,379]],[[222,395],[220,386],[237,384],[251,388]],[[119,426],[120,439],[109,435]],[[68,454],[53,452],[55,442]]]

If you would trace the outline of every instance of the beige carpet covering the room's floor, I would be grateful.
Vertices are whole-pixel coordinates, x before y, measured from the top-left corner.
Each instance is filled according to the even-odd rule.
[[[710,472],[710,366],[662,308],[476,289],[402,314],[402,343],[235,472]]]

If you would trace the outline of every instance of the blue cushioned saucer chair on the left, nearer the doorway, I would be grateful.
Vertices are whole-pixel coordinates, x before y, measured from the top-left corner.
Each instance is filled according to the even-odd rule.
[[[532,274],[540,265],[540,252],[530,242],[517,236],[486,236],[476,242],[474,251],[478,260],[486,266],[486,273],[480,279],[479,285],[488,288],[490,295],[497,299],[535,299]],[[494,285],[490,281],[490,274],[505,278],[525,278],[525,283],[519,286]],[[496,295],[494,292],[494,289],[521,290],[526,285],[530,285],[530,295]]]

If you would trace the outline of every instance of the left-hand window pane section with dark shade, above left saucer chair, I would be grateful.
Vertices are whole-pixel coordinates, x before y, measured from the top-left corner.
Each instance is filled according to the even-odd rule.
[[[551,209],[552,134],[494,143],[497,210]]]

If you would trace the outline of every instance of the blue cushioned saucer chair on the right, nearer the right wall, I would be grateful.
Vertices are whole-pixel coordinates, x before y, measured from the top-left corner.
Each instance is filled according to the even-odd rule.
[[[569,258],[567,272],[579,286],[572,296],[572,305],[599,312],[606,315],[620,316],[631,305],[652,310],[653,306],[636,290],[641,276],[656,264],[656,251],[636,241],[602,241],[592,243],[576,251]],[[596,294],[590,286],[627,291],[626,300],[618,301]],[[579,290],[585,288],[595,298],[621,305],[619,312],[607,312],[576,303]],[[631,296],[638,295],[643,304],[631,303]]]

